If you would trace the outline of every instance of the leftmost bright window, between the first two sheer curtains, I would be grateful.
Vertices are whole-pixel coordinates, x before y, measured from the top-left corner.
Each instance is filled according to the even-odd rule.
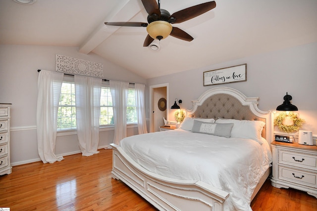
[[[75,84],[63,82],[57,113],[57,130],[76,128]]]

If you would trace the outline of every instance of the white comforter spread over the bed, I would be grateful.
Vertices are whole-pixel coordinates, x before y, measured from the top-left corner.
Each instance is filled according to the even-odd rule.
[[[252,211],[251,195],[271,163],[271,152],[251,139],[182,129],[122,139],[121,148],[143,168],[176,179],[200,180],[229,193],[225,211]]]

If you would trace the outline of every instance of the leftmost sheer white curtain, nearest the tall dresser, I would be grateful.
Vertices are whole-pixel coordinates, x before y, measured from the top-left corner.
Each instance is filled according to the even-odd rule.
[[[39,156],[43,163],[63,160],[55,155],[57,112],[63,73],[42,70],[38,78],[36,128]]]

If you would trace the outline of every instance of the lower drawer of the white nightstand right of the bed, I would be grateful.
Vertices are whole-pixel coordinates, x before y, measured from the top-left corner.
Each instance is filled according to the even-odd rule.
[[[317,187],[317,173],[278,167],[278,178],[301,185]]]

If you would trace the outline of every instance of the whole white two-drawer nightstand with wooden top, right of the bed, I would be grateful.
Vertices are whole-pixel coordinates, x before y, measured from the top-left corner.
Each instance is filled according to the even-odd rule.
[[[317,198],[317,146],[273,141],[271,184],[295,188]]]

